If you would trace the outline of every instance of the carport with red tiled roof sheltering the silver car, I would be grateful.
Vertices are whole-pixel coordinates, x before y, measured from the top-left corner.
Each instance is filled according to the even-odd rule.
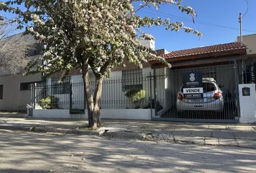
[[[171,68],[158,61],[150,61],[154,69],[155,112],[152,119],[239,123],[238,84],[243,81],[246,49],[241,43],[225,43],[162,54],[171,63]],[[205,80],[208,79],[210,84],[215,84],[214,89],[206,91],[204,86],[200,99],[184,99],[184,75],[187,74],[200,74],[201,85],[206,85]],[[210,92],[214,95],[209,96]]]

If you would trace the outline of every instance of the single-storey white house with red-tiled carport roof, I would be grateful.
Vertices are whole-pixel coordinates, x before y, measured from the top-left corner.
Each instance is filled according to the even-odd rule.
[[[172,67],[167,68],[157,61],[150,61],[150,66],[137,69],[135,66],[116,67],[111,77],[103,82],[101,115],[103,118],[173,120],[189,122],[239,123],[241,114],[239,107],[239,84],[243,83],[242,63],[247,59],[247,47],[240,43],[211,45],[171,53],[161,53]],[[77,72],[79,73],[79,72]],[[195,104],[189,110],[178,110],[179,92],[184,84],[184,74],[202,75],[203,80],[212,80],[216,93],[210,95],[208,109],[202,104]],[[85,97],[81,74],[70,76],[69,93],[59,93],[52,86],[56,79],[48,79],[48,85],[39,87],[35,95],[34,117],[87,117]],[[53,82],[54,81],[54,82]],[[202,81],[204,84],[205,81]],[[92,83],[92,89],[93,89]],[[61,86],[61,91],[65,87]],[[140,107],[126,96],[132,88],[145,90],[145,97]],[[207,88],[206,88],[207,89]],[[219,90],[218,90],[219,89]],[[66,89],[67,91],[68,89]],[[217,91],[218,90],[218,91]],[[54,94],[57,98],[57,109],[45,110],[40,106],[40,96]],[[217,94],[217,95],[216,95]],[[39,96],[39,97],[38,97]],[[216,98],[217,97],[217,98]],[[202,97],[204,100],[205,97]],[[211,102],[220,99],[221,109]],[[82,110],[82,111],[79,111]],[[47,113],[48,111],[48,113]]]

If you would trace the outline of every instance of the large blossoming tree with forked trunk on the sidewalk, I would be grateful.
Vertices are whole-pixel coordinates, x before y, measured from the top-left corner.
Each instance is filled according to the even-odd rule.
[[[153,37],[142,27],[163,26],[166,30],[184,30],[200,35],[200,32],[184,27],[182,22],[169,19],[140,17],[136,12],[145,6],[158,8],[161,4],[174,4],[187,14],[195,16],[182,0],[19,0],[0,3],[0,9],[17,14],[18,28],[35,36],[43,45],[43,65],[30,63],[29,73],[43,72],[51,75],[57,71],[69,74],[70,69],[82,69],[82,79],[88,105],[89,126],[101,126],[100,102],[102,83],[111,68],[121,64],[124,58],[140,68],[148,58],[155,58],[150,48],[140,45],[138,39]],[[141,2],[138,9],[133,4]],[[24,5],[25,8],[17,6]],[[169,64],[166,63],[168,66]],[[33,67],[33,68],[32,68]],[[33,69],[33,70],[31,70]],[[95,93],[90,90],[89,70],[95,75]]]

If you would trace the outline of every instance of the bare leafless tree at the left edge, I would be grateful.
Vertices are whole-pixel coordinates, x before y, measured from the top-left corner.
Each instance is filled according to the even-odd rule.
[[[13,35],[15,28],[9,21],[0,17],[0,70],[6,74],[21,72],[30,61],[27,51],[33,50],[33,40],[22,34]]]

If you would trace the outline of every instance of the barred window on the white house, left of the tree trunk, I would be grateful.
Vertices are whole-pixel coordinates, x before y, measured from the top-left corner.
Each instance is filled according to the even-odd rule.
[[[64,81],[60,78],[51,78],[52,94],[69,94],[70,90],[70,76]]]

